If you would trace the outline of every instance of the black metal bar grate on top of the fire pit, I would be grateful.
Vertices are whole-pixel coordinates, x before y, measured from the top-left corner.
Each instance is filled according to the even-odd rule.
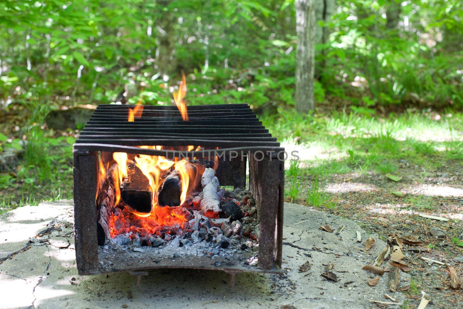
[[[129,122],[128,105],[97,107],[77,144],[202,145],[219,148],[279,147],[247,104],[188,107],[188,121],[175,106],[145,106]]]

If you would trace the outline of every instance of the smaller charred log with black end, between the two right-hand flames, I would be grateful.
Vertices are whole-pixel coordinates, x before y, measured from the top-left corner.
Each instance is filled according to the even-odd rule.
[[[159,190],[157,203],[161,207],[180,206],[181,203],[181,176],[179,169],[184,169],[188,176],[188,192],[193,192],[198,189],[201,176],[204,170],[214,166],[214,161],[179,161],[175,163],[169,170],[167,177],[165,177],[163,186]]]

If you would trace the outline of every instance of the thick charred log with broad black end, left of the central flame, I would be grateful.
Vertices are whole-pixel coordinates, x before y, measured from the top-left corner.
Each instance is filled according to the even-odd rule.
[[[150,182],[135,162],[127,164],[127,177],[120,185],[120,195],[131,208],[141,213],[153,210]]]

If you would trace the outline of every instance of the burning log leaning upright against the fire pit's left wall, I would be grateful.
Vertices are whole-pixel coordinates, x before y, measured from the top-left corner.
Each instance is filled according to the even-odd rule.
[[[103,246],[106,240],[111,238],[109,218],[116,206],[116,187],[119,183],[119,169],[113,164],[107,171],[105,179],[101,183],[100,192],[96,198],[98,209],[97,238],[98,245]]]

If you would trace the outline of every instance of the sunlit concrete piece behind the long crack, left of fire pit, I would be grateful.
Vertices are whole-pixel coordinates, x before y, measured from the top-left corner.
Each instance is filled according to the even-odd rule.
[[[62,200],[24,206],[0,215],[0,258],[24,248],[31,236],[44,230],[47,224],[72,202]]]

